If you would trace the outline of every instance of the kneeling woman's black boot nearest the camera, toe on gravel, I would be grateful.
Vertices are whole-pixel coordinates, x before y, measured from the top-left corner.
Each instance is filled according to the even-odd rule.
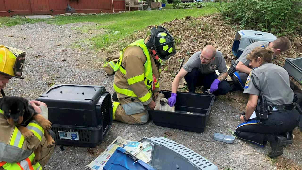
[[[266,135],[264,140],[271,143],[271,152],[269,153],[269,157],[273,158],[283,154],[283,146],[286,145],[285,137]]]

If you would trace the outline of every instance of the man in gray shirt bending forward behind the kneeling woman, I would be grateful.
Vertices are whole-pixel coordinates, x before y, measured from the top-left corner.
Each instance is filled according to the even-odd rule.
[[[290,49],[291,41],[287,37],[280,37],[271,42],[257,41],[247,46],[240,57],[236,60],[238,64],[236,65],[236,72],[232,76],[232,80],[236,87],[232,87],[232,90],[244,89],[246,79],[252,70],[252,67],[249,66],[250,61],[246,59],[246,56],[256,47],[271,47],[274,50],[274,56],[276,56]]]

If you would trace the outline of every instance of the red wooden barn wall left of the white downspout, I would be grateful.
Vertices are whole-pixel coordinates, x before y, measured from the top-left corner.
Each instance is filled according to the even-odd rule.
[[[0,16],[64,14],[67,3],[78,13],[113,12],[112,0],[0,0]]]

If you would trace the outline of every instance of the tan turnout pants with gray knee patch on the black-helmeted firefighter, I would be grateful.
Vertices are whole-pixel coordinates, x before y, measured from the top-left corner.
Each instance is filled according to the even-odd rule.
[[[127,97],[113,102],[113,118],[127,124],[145,124],[149,114],[142,102]]]

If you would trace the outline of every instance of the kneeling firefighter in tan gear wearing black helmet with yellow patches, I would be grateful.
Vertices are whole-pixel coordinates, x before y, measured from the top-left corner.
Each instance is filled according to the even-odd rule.
[[[108,57],[103,69],[108,74],[115,72],[116,93],[112,97],[115,120],[128,124],[144,124],[149,120],[145,106],[155,107],[153,100],[159,92],[162,60],[175,53],[172,36],[165,28],[156,26],[146,39],[137,40],[119,55]]]

